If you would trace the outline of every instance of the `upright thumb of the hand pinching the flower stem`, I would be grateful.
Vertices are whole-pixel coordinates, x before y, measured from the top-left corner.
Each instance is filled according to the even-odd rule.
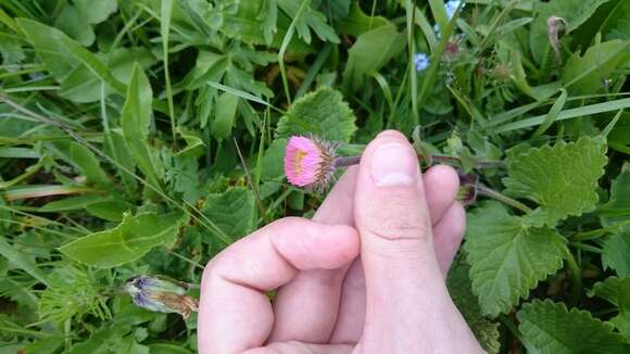
[[[449,305],[438,301],[449,296],[433,250],[417,155],[402,134],[383,131],[368,144],[361,159],[354,202],[366,281],[366,324],[395,328],[405,318],[417,320],[416,328],[421,328],[427,309]],[[387,324],[388,318],[392,324]]]

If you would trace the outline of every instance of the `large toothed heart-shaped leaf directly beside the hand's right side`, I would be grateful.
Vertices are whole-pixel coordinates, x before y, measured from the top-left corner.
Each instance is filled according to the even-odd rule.
[[[566,240],[555,229],[532,228],[490,202],[469,213],[464,248],[481,312],[494,317],[562,267]]]

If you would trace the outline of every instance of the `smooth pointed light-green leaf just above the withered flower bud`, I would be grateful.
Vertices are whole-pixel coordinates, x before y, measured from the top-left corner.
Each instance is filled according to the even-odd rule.
[[[136,261],[154,246],[172,244],[182,222],[179,213],[125,215],[115,228],[81,237],[59,250],[77,262],[111,268]]]

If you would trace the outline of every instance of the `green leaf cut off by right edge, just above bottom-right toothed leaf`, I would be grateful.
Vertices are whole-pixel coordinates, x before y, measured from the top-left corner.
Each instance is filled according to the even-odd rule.
[[[597,282],[589,295],[606,299],[619,308],[619,314],[610,318],[610,323],[630,343],[630,278],[607,278]]]

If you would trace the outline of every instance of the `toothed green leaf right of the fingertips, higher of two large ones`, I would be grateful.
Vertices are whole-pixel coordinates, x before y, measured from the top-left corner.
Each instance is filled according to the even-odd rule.
[[[606,162],[605,143],[590,137],[532,148],[509,157],[508,177],[503,179],[505,193],[540,204],[527,216],[533,225],[554,226],[595,207],[595,188]]]

